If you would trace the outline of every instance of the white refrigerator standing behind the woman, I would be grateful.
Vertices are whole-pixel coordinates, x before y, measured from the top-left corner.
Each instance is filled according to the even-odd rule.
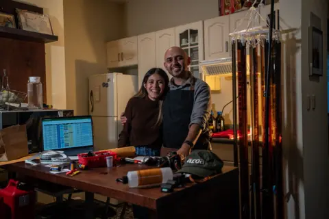
[[[94,150],[114,149],[123,129],[120,114],[138,91],[138,77],[122,73],[92,75],[88,79],[88,87]]]

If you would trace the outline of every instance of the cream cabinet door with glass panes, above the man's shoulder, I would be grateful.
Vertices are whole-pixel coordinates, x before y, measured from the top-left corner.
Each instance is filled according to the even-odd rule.
[[[204,60],[204,27],[203,21],[175,27],[175,44],[184,49],[191,57],[191,73],[202,79],[199,61]]]

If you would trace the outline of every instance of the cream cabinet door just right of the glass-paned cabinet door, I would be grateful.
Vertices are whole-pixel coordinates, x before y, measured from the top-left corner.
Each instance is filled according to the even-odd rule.
[[[204,60],[230,57],[230,16],[219,16],[204,21]]]

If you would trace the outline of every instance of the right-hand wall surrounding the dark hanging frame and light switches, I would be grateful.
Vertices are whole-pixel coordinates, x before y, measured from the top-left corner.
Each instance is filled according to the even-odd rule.
[[[302,0],[302,116],[304,147],[304,187],[306,218],[329,218],[329,148],[327,114],[327,14],[328,0]],[[308,27],[310,12],[321,19],[324,76],[308,77]],[[305,15],[305,16],[304,16]],[[305,55],[304,55],[305,54]],[[315,110],[307,110],[308,96],[315,96]],[[316,202],[314,202],[317,200]]]

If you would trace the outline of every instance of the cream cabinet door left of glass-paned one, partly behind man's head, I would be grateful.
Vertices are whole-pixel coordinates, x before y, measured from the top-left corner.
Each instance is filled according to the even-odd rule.
[[[170,47],[174,47],[175,44],[175,28],[162,29],[156,31],[156,67],[165,70],[164,63],[164,53]],[[167,70],[166,70],[167,72]],[[171,75],[167,72],[169,78]]]

